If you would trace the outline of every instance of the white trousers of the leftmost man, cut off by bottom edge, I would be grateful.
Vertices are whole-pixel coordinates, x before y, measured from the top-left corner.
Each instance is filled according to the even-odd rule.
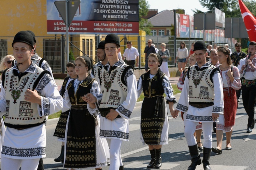
[[[37,170],[39,159],[11,159],[2,157],[1,170]]]

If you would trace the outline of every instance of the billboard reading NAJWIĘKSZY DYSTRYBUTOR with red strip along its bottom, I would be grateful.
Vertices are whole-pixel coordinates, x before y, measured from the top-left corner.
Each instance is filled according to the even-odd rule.
[[[47,34],[66,34],[54,2],[47,0]],[[139,34],[139,0],[82,0],[69,34]]]

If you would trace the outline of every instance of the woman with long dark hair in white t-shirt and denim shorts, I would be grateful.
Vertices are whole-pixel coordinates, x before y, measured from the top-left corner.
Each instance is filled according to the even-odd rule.
[[[186,44],[184,43],[184,41],[181,41],[181,47],[178,49],[176,58],[179,58],[178,69],[182,73],[182,71],[185,69],[186,60],[188,58],[188,51],[187,51]],[[175,58],[174,63],[176,63],[176,58]]]

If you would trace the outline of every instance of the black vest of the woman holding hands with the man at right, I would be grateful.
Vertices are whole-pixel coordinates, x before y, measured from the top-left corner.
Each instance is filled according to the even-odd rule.
[[[150,71],[144,73],[142,76],[142,87],[145,97],[163,96],[165,93],[162,85],[164,76],[165,73],[161,72],[159,69],[152,79],[150,79]]]

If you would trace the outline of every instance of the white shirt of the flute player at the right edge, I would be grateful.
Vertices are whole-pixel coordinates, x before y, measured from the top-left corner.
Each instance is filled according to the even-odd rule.
[[[241,69],[242,69],[242,66],[245,65],[247,58],[248,58],[248,55],[245,58],[241,59],[237,66],[239,69],[240,78],[243,77],[244,71],[241,72]],[[256,55],[254,56],[254,58],[252,60],[252,64],[254,65],[254,67],[251,67],[250,65],[247,66],[245,76],[244,76],[246,80],[256,79]]]

